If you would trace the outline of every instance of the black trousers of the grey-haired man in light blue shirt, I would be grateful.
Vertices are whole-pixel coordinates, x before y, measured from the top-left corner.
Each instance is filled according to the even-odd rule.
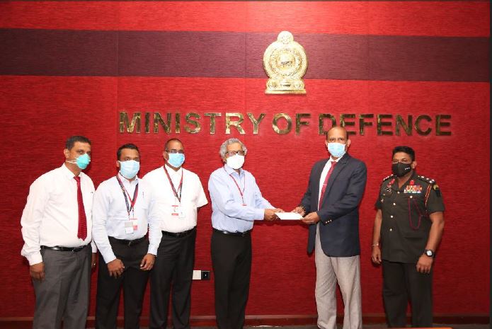
[[[241,329],[251,276],[251,236],[213,231],[215,317],[219,329]]]

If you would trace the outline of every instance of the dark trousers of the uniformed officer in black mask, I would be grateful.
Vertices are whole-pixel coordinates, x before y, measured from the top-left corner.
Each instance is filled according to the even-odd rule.
[[[432,327],[433,297],[430,274],[417,272],[416,264],[383,260],[383,299],[388,325],[405,327],[410,300],[412,327]]]

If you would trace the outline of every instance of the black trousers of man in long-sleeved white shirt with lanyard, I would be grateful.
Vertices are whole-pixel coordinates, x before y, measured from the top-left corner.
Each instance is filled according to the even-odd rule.
[[[147,255],[149,241],[143,239],[130,246],[111,237],[109,241],[116,258],[125,265],[125,270],[118,278],[110,277],[108,265],[99,254],[96,329],[116,329],[121,287],[125,299],[125,329],[137,329],[140,326],[142,302],[149,277],[148,271],[140,270],[140,263],[144,255]]]

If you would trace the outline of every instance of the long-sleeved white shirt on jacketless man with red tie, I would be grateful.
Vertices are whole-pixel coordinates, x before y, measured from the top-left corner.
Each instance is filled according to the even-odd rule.
[[[80,173],[82,200],[86,211],[87,237],[77,237],[79,204],[77,182],[65,164],[41,175],[30,185],[28,201],[21,217],[24,246],[21,255],[29,265],[42,262],[40,246],[79,247],[91,243],[92,198],[94,184],[85,173]],[[96,253],[96,246],[92,246]]]

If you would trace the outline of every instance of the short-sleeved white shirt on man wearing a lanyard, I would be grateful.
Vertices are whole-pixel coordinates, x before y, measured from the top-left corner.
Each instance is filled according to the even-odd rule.
[[[151,187],[152,199],[155,202],[151,208],[151,216],[160,219],[162,231],[172,233],[188,231],[197,225],[197,208],[208,203],[207,197],[198,175],[183,167],[174,171],[173,168],[165,166],[178,195],[178,187],[183,177],[181,202],[178,202],[174,195],[166,172],[164,172],[164,166],[154,169],[143,178],[145,183]],[[172,215],[173,205],[181,206],[183,217]]]

